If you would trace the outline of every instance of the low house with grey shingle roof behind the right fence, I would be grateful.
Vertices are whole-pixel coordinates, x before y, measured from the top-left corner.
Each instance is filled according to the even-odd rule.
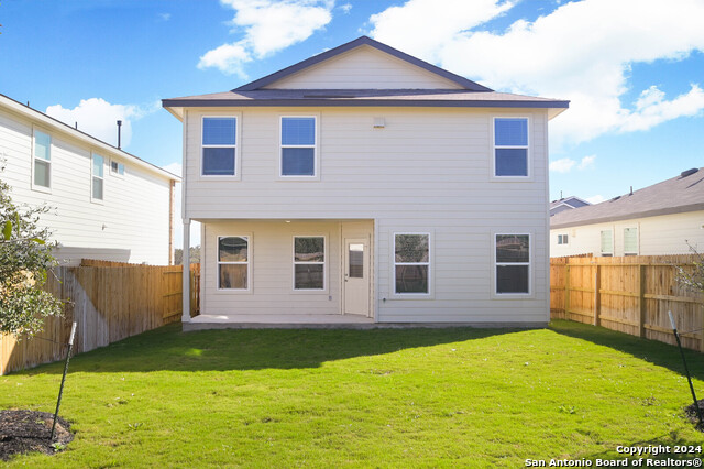
[[[550,218],[550,255],[704,251],[704,168]]]

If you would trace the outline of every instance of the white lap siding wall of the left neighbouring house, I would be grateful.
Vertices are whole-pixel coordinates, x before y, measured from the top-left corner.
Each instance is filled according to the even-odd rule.
[[[34,122],[0,110],[0,174],[19,204],[55,208],[43,218],[62,248],[57,258],[76,264],[81,258],[168,264],[169,179],[79,142],[62,132],[36,127],[52,137],[51,193],[31,188]],[[91,152],[105,156],[105,199],[90,200]],[[110,172],[111,160],[124,164],[124,175]]]

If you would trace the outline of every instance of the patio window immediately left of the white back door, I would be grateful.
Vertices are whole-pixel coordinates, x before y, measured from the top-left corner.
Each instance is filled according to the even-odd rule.
[[[324,290],[326,238],[294,237],[294,290]]]

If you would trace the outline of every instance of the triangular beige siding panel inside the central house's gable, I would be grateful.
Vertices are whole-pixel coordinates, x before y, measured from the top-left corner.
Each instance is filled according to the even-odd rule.
[[[275,81],[270,89],[461,89],[374,47],[362,46]]]

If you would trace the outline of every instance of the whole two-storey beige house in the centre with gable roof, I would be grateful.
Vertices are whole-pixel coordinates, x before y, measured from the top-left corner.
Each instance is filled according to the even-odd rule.
[[[202,223],[194,321],[548,323],[548,121],[568,101],[360,37],[163,105],[185,239]]]

